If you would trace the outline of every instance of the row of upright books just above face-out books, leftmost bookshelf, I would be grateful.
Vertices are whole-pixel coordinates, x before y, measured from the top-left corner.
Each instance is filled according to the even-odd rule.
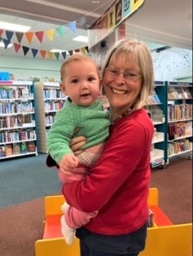
[[[36,132],[33,129],[0,132],[0,143],[21,142],[30,139],[36,139]]]

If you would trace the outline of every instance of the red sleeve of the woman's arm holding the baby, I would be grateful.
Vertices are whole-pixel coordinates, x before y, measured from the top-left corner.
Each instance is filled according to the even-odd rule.
[[[147,170],[153,126],[143,113],[136,111],[117,122],[91,174],[62,187],[71,206],[85,212],[100,210],[130,175],[136,172],[137,176],[140,170]]]

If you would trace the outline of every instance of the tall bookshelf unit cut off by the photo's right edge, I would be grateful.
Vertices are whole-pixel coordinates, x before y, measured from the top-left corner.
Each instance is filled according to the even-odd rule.
[[[167,158],[192,158],[192,82],[167,82]]]

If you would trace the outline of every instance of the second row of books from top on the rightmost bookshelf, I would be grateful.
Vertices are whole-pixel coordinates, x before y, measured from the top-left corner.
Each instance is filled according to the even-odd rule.
[[[168,122],[180,121],[192,118],[192,104],[168,104],[167,105]]]

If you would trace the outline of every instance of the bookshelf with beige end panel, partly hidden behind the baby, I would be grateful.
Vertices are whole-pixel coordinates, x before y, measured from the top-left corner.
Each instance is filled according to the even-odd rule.
[[[65,95],[59,82],[35,82],[34,98],[37,123],[37,150],[47,152],[47,134],[52,126],[57,110],[64,106]]]

